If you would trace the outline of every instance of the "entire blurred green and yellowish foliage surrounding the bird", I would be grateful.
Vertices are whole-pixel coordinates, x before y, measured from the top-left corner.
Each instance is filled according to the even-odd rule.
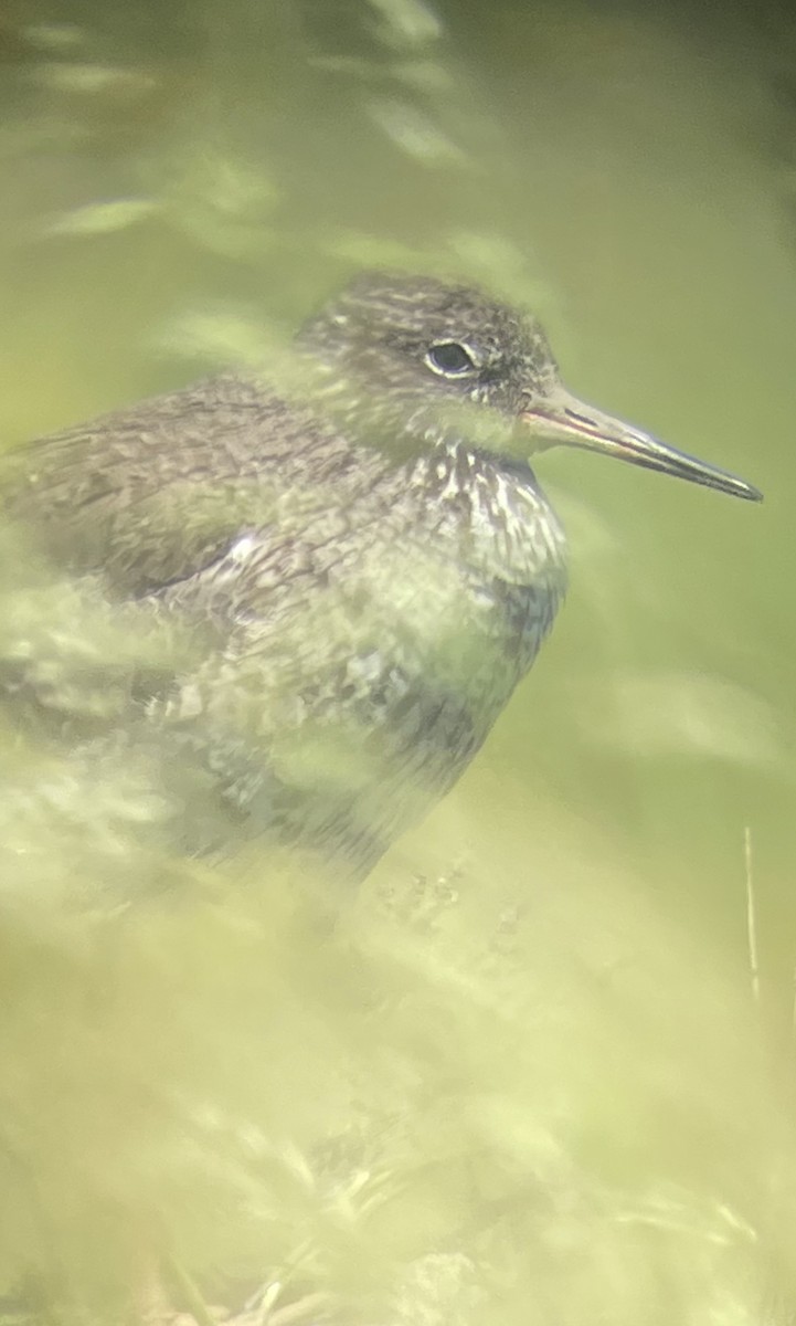
[[[4,8],[9,443],[258,359],[397,264],[532,304],[573,386],[770,499],[544,457],[567,614],[332,928],[301,863],[148,841],[146,762],[3,733],[4,1323],[792,1319],[787,17]],[[4,565],[3,660],[73,716],[158,666]]]

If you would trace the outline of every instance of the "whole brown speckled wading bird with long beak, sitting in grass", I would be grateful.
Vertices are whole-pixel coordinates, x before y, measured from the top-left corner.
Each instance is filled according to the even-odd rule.
[[[572,395],[531,313],[381,271],[270,366],[17,448],[0,493],[134,633],[191,638],[114,719],[164,752],[164,786],[191,770],[185,850],[254,838],[362,879],[454,785],[552,627],[567,546],[532,467],[556,444],[762,497]]]

